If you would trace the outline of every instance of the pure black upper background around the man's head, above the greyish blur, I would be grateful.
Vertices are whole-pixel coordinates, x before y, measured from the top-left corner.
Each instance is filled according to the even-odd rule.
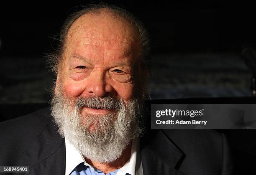
[[[51,49],[51,38],[75,6],[70,3],[1,1],[1,55],[41,55]],[[145,23],[154,51],[227,51],[243,42],[255,42],[256,13],[253,4],[149,3],[106,1],[122,5]]]

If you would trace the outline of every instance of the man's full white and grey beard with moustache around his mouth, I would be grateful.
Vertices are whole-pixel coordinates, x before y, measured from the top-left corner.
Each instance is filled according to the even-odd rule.
[[[89,101],[78,98],[72,101],[63,93],[54,94],[51,114],[59,127],[59,133],[90,160],[117,160],[127,145],[141,134],[139,117],[142,103],[138,99],[131,99],[126,105],[122,99],[111,97],[95,97]],[[106,115],[82,116],[82,107],[90,105],[119,109]]]

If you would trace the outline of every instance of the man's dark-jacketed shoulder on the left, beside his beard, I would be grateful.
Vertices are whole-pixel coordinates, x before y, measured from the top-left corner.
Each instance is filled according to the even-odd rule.
[[[31,169],[41,162],[63,163],[64,139],[49,108],[0,123],[0,139],[1,166],[26,165]]]

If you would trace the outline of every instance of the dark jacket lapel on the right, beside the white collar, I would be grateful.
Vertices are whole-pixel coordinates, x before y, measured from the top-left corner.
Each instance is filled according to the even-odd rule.
[[[144,175],[185,175],[177,170],[183,159],[184,154],[161,130],[151,130],[141,138]]]

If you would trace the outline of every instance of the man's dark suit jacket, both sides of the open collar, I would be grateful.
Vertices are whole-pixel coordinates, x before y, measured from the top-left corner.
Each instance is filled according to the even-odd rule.
[[[26,175],[64,175],[65,141],[45,108],[0,123],[0,166],[29,166]],[[213,130],[148,130],[141,138],[144,175],[229,175],[225,137]]]

